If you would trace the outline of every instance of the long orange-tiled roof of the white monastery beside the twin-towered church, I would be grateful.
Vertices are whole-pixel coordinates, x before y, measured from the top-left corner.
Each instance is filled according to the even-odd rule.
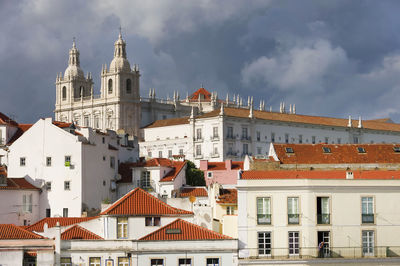
[[[220,110],[214,110],[209,113],[205,113],[200,116],[196,116],[196,118],[208,118],[208,117],[217,117],[219,116]],[[232,108],[225,107],[224,115],[228,117],[237,117],[237,118],[246,118],[249,119],[249,110],[245,108]],[[267,111],[259,111],[253,110],[253,116],[255,119],[261,120],[270,120],[270,121],[282,121],[289,123],[298,123],[298,124],[310,124],[310,125],[322,125],[329,127],[342,127],[347,128],[348,119],[344,118],[333,118],[333,117],[323,117],[323,116],[311,116],[311,115],[299,115],[299,114],[286,114],[286,113],[277,113],[277,112],[267,112]],[[174,118],[166,119],[166,120],[157,120],[150,124],[145,128],[152,127],[162,127],[162,126],[170,126],[170,125],[179,125],[179,124],[188,124],[189,117],[183,118]],[[400,132],[400,124],[382,122],[379,120],[363,120],[363,128],[371,129],[371,130],[382,130],[382,131],[396,131]],[[352,120],[352,127],[357,128],[358,120]]]

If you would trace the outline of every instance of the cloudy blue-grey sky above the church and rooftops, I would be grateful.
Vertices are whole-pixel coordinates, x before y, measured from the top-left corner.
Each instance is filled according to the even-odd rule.
[[[53,115],[73,37],[98,93],[121,25],[143,96],[204,84],[273,110],[400,122],[399,11],[396,0],[0,0],[0,111]]]

